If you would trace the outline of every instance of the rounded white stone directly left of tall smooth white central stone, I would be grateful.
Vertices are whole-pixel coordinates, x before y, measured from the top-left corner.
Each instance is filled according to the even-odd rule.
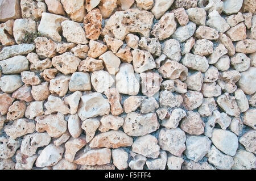
[[[93,89],[100,93],[108,90],[115,82],[108,71],[104,70],[94,71],[91,75],[91,81]]]

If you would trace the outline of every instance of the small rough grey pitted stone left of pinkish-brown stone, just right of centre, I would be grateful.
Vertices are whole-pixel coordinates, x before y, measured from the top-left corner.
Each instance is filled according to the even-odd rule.
[[[180,104],[183,102],[181,95],[172,94],[171,91],[160,91],[160,106],[164,107],[180,107]]]

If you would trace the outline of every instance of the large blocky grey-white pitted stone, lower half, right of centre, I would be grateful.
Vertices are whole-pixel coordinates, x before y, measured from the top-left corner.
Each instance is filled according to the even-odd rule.
[[[185,146],[185,132],[180,128],[166,129],[162,128],[159,132],[158,142],[160,148],[169,151],[171,154],[180,157]]]

